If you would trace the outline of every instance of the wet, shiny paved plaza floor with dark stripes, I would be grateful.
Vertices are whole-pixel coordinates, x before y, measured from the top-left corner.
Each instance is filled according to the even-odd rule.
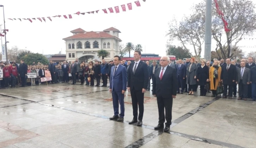
[[[143,126],[114,115],[108,87],[60,83],[1,89],[0,148],[255,148],[256,102],[177,94],[169,132],[158,125],[157,100],[144,97]]]

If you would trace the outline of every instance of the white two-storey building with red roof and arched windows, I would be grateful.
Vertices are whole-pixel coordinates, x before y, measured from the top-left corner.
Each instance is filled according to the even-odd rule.
[[[80,62],[87,62],[88,59],[98,58],[98,51],[104,49],[109,52],[109,55],[104,59],[109,61],[118,55],[119,39],[118,29],[111,27],[104,31],[84,31],[81,28],[72,30],[72,36],[64,38],[66,42],[66,60],[68,62],[74,61],[76,58]],[[102,57],[100,57],[102,59]]]

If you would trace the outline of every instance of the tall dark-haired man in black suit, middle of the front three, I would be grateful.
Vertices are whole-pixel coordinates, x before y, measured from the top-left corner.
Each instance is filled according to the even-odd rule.
[[[131,93],[133,105],[133,120],[129,122],[129,124],[138,122],[137,125],[141,126],[144,113],[144,93],[147,89],[149,74],[147,64],[140,60],[141,52],[135,51],[133,57],[134,62],[130,64],[129,71],[127,73],[127,90]]]

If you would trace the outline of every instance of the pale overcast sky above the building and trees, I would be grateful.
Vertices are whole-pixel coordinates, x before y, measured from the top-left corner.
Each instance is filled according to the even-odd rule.
[[[190,7],[201,0],[140,0],[141,7],[136,7],[136,0],[1,0],[0,5],[5,8],[5,20],[7,32],[7,46],[18,46],[21,49],[28,49],[35,53],[57,54],[62,50],[65,54],[65,41],[62,40],[71,36],[71,30],[82,28],[85,31],[103,31],[106,28],[115,27],[119,29],[122,43],[132,42],[134,45],[141,44],[143,53],[155,53],[160,56],[165,55],[165,45],[169,37],[166,37],[168,31],[168,22],[173,15],[182,18],[184,14],[190,13]],[[102,9],[132,2],[133,9],[126,12],[104,14]],[[74,13],[89,12],[100,10],[98,14],[76,15]],[[73,19],[64,19],[63,15],[72,14]],[[51,16],[62,15],[61,18]],[[50,16],[52,22],[47,19]],[[32,18],[45,17],[46,22],[32,20]],[[7,18],[30,18],[29,20],[8,20]],[[0,25],[4,24],[2,8],[0,7]],[[2,29],[4,25],[2,25]],[[246,52],[256,51],[255,40],[244,40],[243,44],[248,48],[243,48]],[[4,42],[4,38],[3,42]],[[215,48],[215,42],[212,41],[212,49]],[[173,45],[179,45],[179,42],[173,42]],[[146,47],[146,50],[145,50]],[[203,46],[204,47],[204,46]],[[193,52],[192,47],[190,47]],[[204,51],[202,50],[202,54]]]

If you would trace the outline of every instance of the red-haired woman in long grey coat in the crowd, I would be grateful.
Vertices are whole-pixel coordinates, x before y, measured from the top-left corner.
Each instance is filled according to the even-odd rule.
[[[189,95],[194,95],[194,92],[197,91],[196,74],[197,74],[197,65],[195,63],[195,58],[191,58],[190,63],[187,66],[187,73],[186,73],[187,75],[186,84],[188,84]]]

